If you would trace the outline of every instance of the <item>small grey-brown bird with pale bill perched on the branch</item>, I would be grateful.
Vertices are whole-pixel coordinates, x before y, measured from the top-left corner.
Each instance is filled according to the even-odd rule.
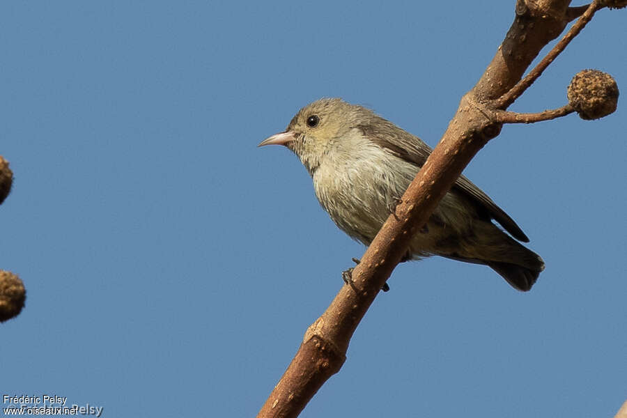
[[[320,205],[342,231],[370,245],[431,148],[373,111],[338,98],[313,102],[259,146],[291,149],[314,180]],[[492,223],[497,221],[509,232]],[[484,264],[519,291],[544,269],[516,222],[464,176],[410,243],[407,259],[431,255]]]

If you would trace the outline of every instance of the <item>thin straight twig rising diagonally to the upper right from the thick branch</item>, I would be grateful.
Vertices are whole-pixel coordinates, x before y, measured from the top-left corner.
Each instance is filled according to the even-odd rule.
[[[559,42],[557,42],[557,44],[555,44],[555,47],[553,47],[550,52],[546,54],[542,61],[540,61],[538,65],[536,65],[536,67],[525,76],[525,78],[520,80],[520,82],[518,82],[516,86],[513,86],[510,91],[495,100],[494,108],[507,109],[507,107],[509,107],[509,105],[512,104],[514,100],[520,97],[520,95],[524,93],[525,90],[527,90],[527,88],[529,88],[529,86],[531,86],[538,77],[540,77],[542,72],[546,70],[550,63],[552,63],[553,60],[555,60],[555,58],[557,58],[557,56],[562,53],[562,51],[564,51],[568,43],[570,43],[571,40],[573,40],[573,38],[575,38],[575,36],[577,36],[582,29],[584,29],[586,24],[588,24],[588,22],[590,22],[590,20],[592,19],[592,16],[594,16],[594,13],[596,13],[596,10],[600,9],[601,7],[602,6],[599,5],[598,0],[592,1],[592,3],[590,3],[588,8],[586,9],[585,13],[581,15],[579,20],[575,22],[573,26],[571,26],[571,29],[569,29],[568,33],[564,35],[564,38],[562,38],[561,40],[559,40]]]

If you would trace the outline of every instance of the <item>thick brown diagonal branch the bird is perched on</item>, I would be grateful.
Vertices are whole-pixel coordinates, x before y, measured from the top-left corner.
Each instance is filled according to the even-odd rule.
[[[297,417],[323,383],[339,371],[353,332],[401,261],[412,235],[426,223],[472,157],[500,133],[502,120],[511,119],[509,112],[495,112],[491,101],[511,91],[540,50],[562,33],[569,19],[568,3],[536,0],[523,4],[523,0],[518,0],[516,19],[497,54],[477,85],[463,96],[440,143],[353,270],[352,286],[343,286],[325,313],[308,328],[298,352],[258,417]],[[520,4],[523,6],[518,7]],[[540,10],[546,7],[550,9],[548,14]],[[594,8],[585,19],[589,20],[592,14]],[[582,27],[580,22],[577,24]],[[560,43],[560,48],[567,43]],[[514,91],[512,96],[525,88]],[[505,103],[507,100],[502,106]],[[549,112],[557,111],[560,109]],[[564,107],[561,111],[570,109]]]

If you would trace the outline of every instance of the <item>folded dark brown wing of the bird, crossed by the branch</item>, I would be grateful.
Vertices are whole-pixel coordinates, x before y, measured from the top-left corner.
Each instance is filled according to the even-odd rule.
[[[385,119],[383,120],[385,121]],[[380,123],[369,124],[360,126],[359,129],[362,130],[366,137],[369,137],[369,139],[382,148],[386,148],[389,152],[401,157],[405,161],[422,167],[422,164],[424,164],[429,154],[431,154],[431,147],[418,137],[401,130],[400,127],[397,127],[393,123],[385,122],[387,122],[385,125],[389,125],[384,127]],[[379,128],[379,126],[381,128]],[[458,190],[458,192],[462,192],[468,199],[477,203],[480,208],[483,208],[488,217],[495,219],[514,238],[522,242],[529,242],[529,238],[522,232],[520,226],[518,226],[504,210],[499,208],[487,194],[474,185],[472,181],[468,180],[465,176],[459,176],[453,187]]]

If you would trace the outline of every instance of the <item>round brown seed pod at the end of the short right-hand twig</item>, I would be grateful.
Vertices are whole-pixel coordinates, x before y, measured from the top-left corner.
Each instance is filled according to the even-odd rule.
[[[583,70],[568,86],[568,103],[580,118],[591,120],[612,114],[617,107],[619,90],[611,75],[598,70]]]

